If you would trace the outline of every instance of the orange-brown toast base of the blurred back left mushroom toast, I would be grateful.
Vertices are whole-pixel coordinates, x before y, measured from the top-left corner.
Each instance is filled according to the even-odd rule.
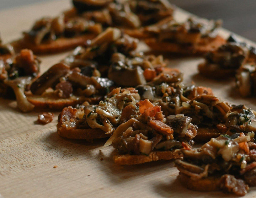
[[[73,38],[58,38],[56,41],[40,45],[35,45],[27,39],[21,39],[13,44],[16,48],[31,49],[36,54],[52,54],[73,49],[79,45],[84,45],[88,39],[93,39],[96,36],[96,34],[85,34],[83,36],[76,36]]]

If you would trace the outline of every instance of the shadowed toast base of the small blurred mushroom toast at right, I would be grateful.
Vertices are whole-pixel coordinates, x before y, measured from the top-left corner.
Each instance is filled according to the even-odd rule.
[[[198,65],[199,73],[214,79],[226,79],[226,77],[234,76],[234,69],[222,69],[218,65],[207,65],[205,63]]]

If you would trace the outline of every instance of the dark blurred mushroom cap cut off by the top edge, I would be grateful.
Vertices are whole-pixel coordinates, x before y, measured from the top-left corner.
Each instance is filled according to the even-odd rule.
[[[72,3],[78,12],[99,10],[106,7],[113,0],[73,0]]]

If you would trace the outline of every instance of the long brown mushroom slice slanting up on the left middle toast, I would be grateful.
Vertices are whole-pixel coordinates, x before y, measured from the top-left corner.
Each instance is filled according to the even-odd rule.
[[[65,76],[70,71],[69,66],[58,63],[48,69],[31,85],[31,92],[35,95],[41,95],[46,89],[52,87],[60,77]]]

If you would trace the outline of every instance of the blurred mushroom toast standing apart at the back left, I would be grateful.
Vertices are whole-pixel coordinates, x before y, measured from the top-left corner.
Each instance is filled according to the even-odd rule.
[[[36,21],[23,38],[14,42],[16,48],[29,48],[34,53],[58,53],[84,45],[102,32],[102,25],[91,18],[68,16],[43,17]]]

